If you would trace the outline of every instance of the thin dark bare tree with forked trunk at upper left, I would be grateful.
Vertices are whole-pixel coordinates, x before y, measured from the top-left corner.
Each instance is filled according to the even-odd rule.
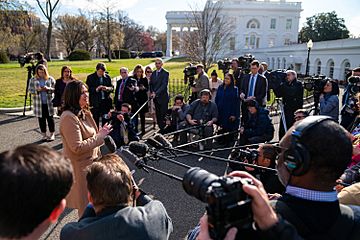
[[[48,20],[48,27],[46,33],[46,50],[45,55],[48,60],[50,60],[50,47],[51,47],[51,38],[53,30],[53,17],[56,7],[58,6],[60,0],[36,0],[41,12],[44,14],[45,18]]]

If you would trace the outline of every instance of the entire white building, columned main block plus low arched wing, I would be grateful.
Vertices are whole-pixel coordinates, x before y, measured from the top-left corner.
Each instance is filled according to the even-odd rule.
[[[286,0],[208,0],[222,4],[222,15],[234,30],[223,43],[221,57],[251,53],[269,63],[271,69],[288,68],[305,73],[306,44],[297,44],[301,2]],[[167,51],[172,54],[172,33],[193,31],[190,11],[170,11],[167,19]],[[181,42],[181,41],[180,41]],[[174,49],[181,52],[180,49]],[[343,80],[345,69],[360,66],[360,39],[315,42],[310,54],[310,74],[324,74]]]

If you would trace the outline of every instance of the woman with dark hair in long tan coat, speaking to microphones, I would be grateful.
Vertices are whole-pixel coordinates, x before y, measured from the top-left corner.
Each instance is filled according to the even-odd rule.
[[[60,118],[60,134],[63,153],[71,160],[75,181],[66,200],[69,207],[79,210],[79,216],[87,205],[84,169],[100,156],[104,138],[111,132],[111,125],[105,124],[98,130],[89,111],[89,93],[81,81],[69,82],[64,93],[64,112]]]

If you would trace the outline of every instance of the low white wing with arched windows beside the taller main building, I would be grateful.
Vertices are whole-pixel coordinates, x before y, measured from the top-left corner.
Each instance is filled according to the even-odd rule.
[[[254,49],[246,53],[251,53],[256,59],[267,62],[270,69],[293,67],[295,71],[305,73],[306,44]],[[238,52],[234,56],[242,54],[244,52]],[[310,75],[322,74],[344,80],[346,69],[360,66],[360,38],[314,42],[309,59]]]

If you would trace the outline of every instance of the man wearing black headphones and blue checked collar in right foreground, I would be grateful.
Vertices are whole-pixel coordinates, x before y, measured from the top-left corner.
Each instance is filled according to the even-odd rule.
[[[275,211],[305,239],[360,239],[360,208],[339,204],[334,190],[351,160],[346,130],[329,117],[309,116],[280,148],[277,170],[286,192],[273,202]]]

